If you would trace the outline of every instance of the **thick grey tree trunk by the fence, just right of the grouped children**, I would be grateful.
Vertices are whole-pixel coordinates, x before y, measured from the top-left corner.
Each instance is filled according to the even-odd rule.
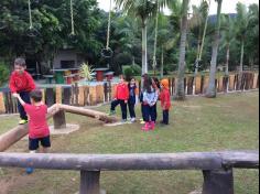
[[[186,54],[186,39],[187,39],[187,10],[189,0],[183,0],[183,17],[181,26],[181,44],[180,44],[180,60],[178,60],[178,75],[177,75],[177,91],[176,99],[185,99],[184,89],[184,74],[185,74],[185,54]]]

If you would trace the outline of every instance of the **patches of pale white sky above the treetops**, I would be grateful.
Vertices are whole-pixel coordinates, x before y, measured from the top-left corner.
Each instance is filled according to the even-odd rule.
[[[109,1],[110,0],[97,0],[99,3],[99,8],[109,11]],[[201,0],[191,0],[191,4],[199,4]],[[251,3],[257,3],[259,4],[258,0],[223,0],[223,9],[221,12],[223,13],[236,13],[236,4],[238,2],[242,2],[247,6],[251,4]],[[112,7],[115,8],[115,3],[112,0]],[[169,11],[165,10],[165,12],[167,13]],[[215,2],[215,0],[212,0],[212,6],[210,6],[210,10],[209,10],[209,14],[216,14],[217,13],[217,3]]]

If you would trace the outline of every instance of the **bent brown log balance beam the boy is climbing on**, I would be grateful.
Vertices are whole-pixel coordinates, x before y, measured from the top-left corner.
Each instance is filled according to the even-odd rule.
[[[106,114],[100,112],[100,111],[55,104],[47,109],[47,112],[48,112],[47,119],[54,117],[55,129],[59,129],[66,126],[64,111],[96,118],[106,123],[112,123],[112,122],[118,121],[116,117],[109,117]],[[1,134],[0,136],[0,152],[6,151],[12,144],[21,140],[23,137],[28,134],[28,132],[29,132],[28,125],[22,125]]]

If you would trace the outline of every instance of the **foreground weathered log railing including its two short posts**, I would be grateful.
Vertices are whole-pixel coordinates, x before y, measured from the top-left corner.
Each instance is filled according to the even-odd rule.
[[[234,194],[232,169],[259,169],[259,151],[144,154],[0,153],[0,166],[80,171],[79,194],[99,194],[100,171],[201,170],[203,194]]]

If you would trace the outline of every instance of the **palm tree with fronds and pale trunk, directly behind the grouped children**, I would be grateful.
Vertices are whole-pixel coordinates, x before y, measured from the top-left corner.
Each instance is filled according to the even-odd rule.
[[[164,7],[167,0],[116,0],[116,4],[127,13],[141,19],[142,28],[142,74],[148,73],[148,20],[156,12],[158,7]]]

